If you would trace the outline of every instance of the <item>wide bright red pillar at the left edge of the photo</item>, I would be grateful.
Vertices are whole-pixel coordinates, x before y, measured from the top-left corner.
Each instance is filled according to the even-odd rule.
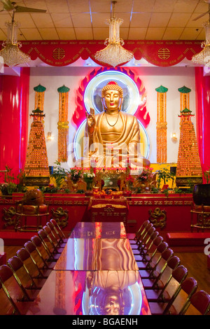
[[[29,68],[20,76],[0,76],[0,170],[24,168],[29,118]]]

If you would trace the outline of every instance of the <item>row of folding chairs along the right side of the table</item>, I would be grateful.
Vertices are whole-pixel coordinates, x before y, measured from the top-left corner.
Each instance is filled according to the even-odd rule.
[[[188,269],[155,230],[144,221],[130,245],[139,267],[141,281],[153,315],[184,315],[193,305],[199,314],[210,311],[210,295],[197,291],[197,281],[188,277]],[[180,304],[181,295],[185,302]],[[177,304],[177,305],[176,305]]]

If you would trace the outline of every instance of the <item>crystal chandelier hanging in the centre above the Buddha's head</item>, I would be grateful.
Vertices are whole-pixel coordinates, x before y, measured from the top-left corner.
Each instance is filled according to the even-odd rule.
[[[115,17],[114,6],[117,1],[113,3],[113,17],[106,21],[109,25],[109,38],[106,38],[104,44],[106,48],[97,51],[94,55],[99,62],[109,64],[113,67],[129,62],[133,57],[133,53],[123,48],[124,41],[120,38],[120,25],[123,23],[121,18]]]

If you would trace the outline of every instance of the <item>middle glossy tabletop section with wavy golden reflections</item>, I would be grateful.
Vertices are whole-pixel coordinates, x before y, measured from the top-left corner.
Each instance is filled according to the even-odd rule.
[[[68,239],[54,269],[138,270],[129,239]]]

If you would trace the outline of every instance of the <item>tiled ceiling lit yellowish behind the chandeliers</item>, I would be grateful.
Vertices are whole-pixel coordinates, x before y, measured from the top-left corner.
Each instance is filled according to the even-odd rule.
[[[104,40],[110,0],[24,0],[18,6],[45,9],[46,13],[15,13],[20,23],[18,40]],[[3,4],[0,3],[0,9]],[[204,0],[118,0],[116,18],[123,19],[124,40],[204,40],[203,23],[209,14]],[[6,40],[5,23],[11,13],[0,12],[0,40]]]

